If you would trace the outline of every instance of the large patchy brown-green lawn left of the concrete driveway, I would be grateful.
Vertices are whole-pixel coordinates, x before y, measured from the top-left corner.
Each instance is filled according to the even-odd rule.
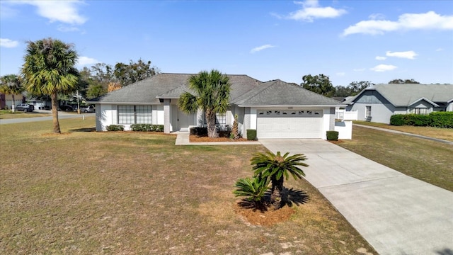
[[[376,254],[306,181],[285,181],[309,195],[287,221],[237,214],[234,183],[263,146],[60,125],[0,125],[1,254]]]

